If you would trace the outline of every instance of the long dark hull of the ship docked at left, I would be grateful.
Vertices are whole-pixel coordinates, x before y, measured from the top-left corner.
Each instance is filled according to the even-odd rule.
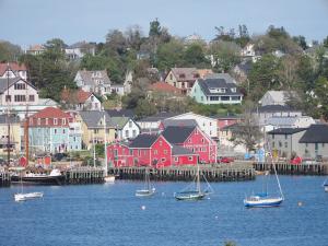
[[[60,176],[35,176],[35,177],[20,177],[11,176],[12,184],[24,185],[65,185],[65,175]]]

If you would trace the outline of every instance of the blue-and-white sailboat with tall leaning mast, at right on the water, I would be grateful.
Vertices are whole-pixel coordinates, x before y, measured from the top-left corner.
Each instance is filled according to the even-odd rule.
[[[269,156],[271,157],[272,161],[272,166],[273,166],[273,171],[274,171],[274,176],[276,176],[276,180],[279,187],[279,195],[277,196],[271,196],[268,194],[268,185],[266,185],[266,191],[261,192],[261,194],[255,194],[251,195],[249,197],[246,197],[244,199],[244,206],[246,208],[269,208],[269,207],[279,207],[282,201],[284,200],[283,194],[282,194],[282,189],[281,189],[281,185],[279,181],[279,177],[277,175],[277,169],[276,169],[276,165],[273,162],[273,157],[271,152],[268,152]],[[266,174],[265,178],[267,179],[269,177],[268,174]]]

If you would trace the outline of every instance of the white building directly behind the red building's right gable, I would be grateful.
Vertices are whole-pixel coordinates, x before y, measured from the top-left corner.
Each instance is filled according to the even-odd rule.
[[[202,116],[202,115],[197,115],[194,114],[192,112],[177,115],[169,117],[168,119],[195,119],[196,122],[198,124],[199,128],[206,132],[208,136],[210,136],[212,139],[218,139],[218,120]]]

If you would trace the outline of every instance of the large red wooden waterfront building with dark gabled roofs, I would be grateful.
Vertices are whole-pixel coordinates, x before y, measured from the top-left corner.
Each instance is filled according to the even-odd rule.
[[[164,167],[196,165],[216,161],[216,143],[198,127],[168,127],[160,136],[139,134],[130,143],[107,147],[107,160],[114,166]]]

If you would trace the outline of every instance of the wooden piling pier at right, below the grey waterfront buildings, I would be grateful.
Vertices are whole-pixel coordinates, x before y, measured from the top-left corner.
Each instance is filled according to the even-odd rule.
[[[272,163],[254,163],[256,171],[273,172]],[[289,164],[276,163],[278,174],[282,175],[328,175],[328,163],[311,163],[311,164]]]

